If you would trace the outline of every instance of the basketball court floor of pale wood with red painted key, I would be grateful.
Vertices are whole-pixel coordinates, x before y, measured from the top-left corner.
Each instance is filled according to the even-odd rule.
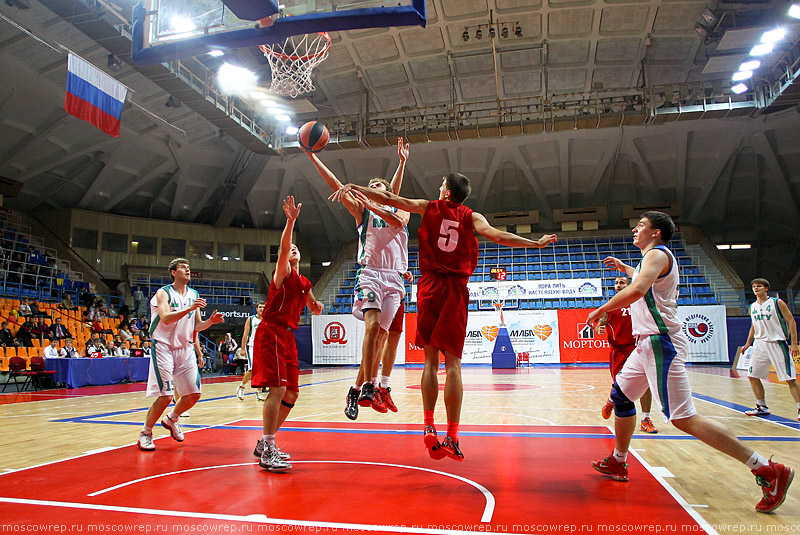
[[[784,533],[800,530],[800,487],[774,514],[743,465],[660,418],[637,434],[630,482],[595,472],[613,448],[600,415],[606,367],[464,368],[463,463],[428,457],[420,368],[392,377],[398,413],[342,411],[355,368],[304,372],[280,447],[293,469],[253,456],[261,403],[236,379],[204,381],[177,443],[135,441],[144,385],[0,396],[0,531],[36,533]],[[747,379],[693,367],[698,410],[777,462],[800,467],[800,422],[784,384],[766,384],[774,415],[742,414]],[[441,377],[443,382],[444,377]],[[638,404],[637,404],[638,405]],[[638,408],[638,407],[637,407]],[[442,400],[436,412],[445,429]]]

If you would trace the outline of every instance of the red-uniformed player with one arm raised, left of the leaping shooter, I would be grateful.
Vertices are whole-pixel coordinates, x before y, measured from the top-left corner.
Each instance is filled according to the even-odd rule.
[[[292,467],[287,462],[289,455],[275,446],[275,434],[294,407],[299,393],[297,377],[300,368],[293,331],[297,330],[304,307],[308,306],[315,315],[322,314],[323,310],[322,303],[311,292],[311,281],[300,274],[300,251],[292,243],[292,230],[301,206],[302,203],[295,206],[291,196],[283,201],[286,226],[281,234],[278,261],[253,345],[251,385],[254,388],[269,387],[264,402],[264,436],[256,443],[254,453],[261,457],[259,466],[271,472]]]

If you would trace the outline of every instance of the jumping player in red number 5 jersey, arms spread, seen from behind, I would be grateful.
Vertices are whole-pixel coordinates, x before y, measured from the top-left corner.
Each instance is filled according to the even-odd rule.
[[[529,240],[492,227],[486,218],[462,203],[471,191],[469,179],[451,173],[442,179],[439,199],[406,199],[388,191],[353,184],[340,189],[332,199],[348,192],[362,195],[380,204],[422,214],[419,229],[419,266],[417,286],[416,344],[425,349],[422,372],[422,405],[425,410],[425,446],[434,459],[445,456],[463,461],[458,443],[461,419],[461,352],[467,330],[467,282],[478,265],[478,238],[475,232],[510,247],[545,247],[556,241],[555,234]],[[444,353],[446,382],[444,404],[447,410],[447,436],[440,443],[433,425],[433,412],[439,395],[439,352]]]

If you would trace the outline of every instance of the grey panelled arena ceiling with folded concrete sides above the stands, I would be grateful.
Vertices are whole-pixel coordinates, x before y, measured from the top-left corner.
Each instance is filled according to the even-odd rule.
[[[136,106],[126,105],[118,139],[67,115],[66,56],[0,20],[0,176],[23,183],[17,197],[5,200],[7,206],[33,213],[81,208],[222,227],[280,228],[281,199],[293,194],[303,202],[298,230],[311,241],[313,262],[329,260],[355,237],[352,218],[327,201],[327,187],[303,154],[237,141],[240,134],[198,112],[185,91],[178,99],[186,105],[165,106],[170,94],[178,93],[164,89],[170,77],[126,62],[108,13],[88,17],[98,23],[89,31],[87,17],[69,16],[86,11],[84,0],[8,3],[0,3],[0,14],[104,70],[113,50],[123,64],[110,74],[135,91]],[[20,3],[29,7],[20,9]],[[296,120],[335,122],[363,114],[366,102],[373,114],[436,106],[469,109],[498,98],[642,93],[637,88],[643,83],[659,88],[662,103],[673,94],[676,99],[724,94],[731,72],[760,32],[792,20],[784,17],[787,5],[431,0],[425,29],[335,33],[330,57],[315,75],[317,91],[302,101],[317,111],[299,113]],[[716,35],[702,38],[694,28],[705,8],[725,16]],[[522,28],[522,37],[495,40],[496,56],[486,36],[490,9],[493,20],[518,22]],[[482,40],[474,38],[477,25],[484,25]],[[107,28],[107,38],[98,28]],[[786,28],[785,51],[796,49],[797,21]],[[726,32],[733,33],[723,46]],[[779,66],[785,51],[766,58],[765,68]],[[234,59],[268,78],[257,50],[239,50]],[[603,123],[613,125],[607,128],[597,128],[599,117],[590,127],[576,128],[576,117],[569,128],[541,133],[451,135],[459,139],[413,143],[402,193],[431,198],[444,174],[460,171],[473,182],[467,203],[472,208],[538,210],[540,230],[558,228],[557,209],[605,206],[607,224],[614,227],[624,226],[625,205],[679,203],[680,220],[703,226],[718,242],[760,245],[764,254],[753,257],[753,266],[763,264],[788,279],[800,262],[798,108],[790,102],[782,109],[711,116],[675,115],[678,120],[663,121],[642,116]],[[396,138],[385,137],[389,145],[383,147],[332,144],[321,159],[343,182],[389,177],[397,164]],[[415,225],[418,220],[412,218]]]

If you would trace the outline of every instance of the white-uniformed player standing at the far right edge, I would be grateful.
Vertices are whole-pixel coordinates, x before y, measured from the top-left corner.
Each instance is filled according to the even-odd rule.
[[[769,416],[764,385],[761,381],[769,377],[770,365],[775,367],[778,380],[789,385],[794,401],[797,403],[797,419],[800,420],[800,386],[797,384],[797,371],[794,359],[800,351],[797,347],[797,323],[789,307],[781,299],[770,297],[769,281],[753,279],[750,283],[756,302],[750,305],[750,334],[742,352],[753,346],[750,369],[747,377],[750,388],[756,396],[756,408],[745,411],[748,416]],[[787,342],[791,340],[791,345]]]

